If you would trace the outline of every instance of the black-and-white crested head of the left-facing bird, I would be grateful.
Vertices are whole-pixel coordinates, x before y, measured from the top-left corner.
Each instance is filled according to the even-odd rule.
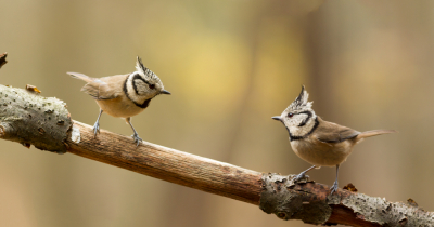
[[[317,115],[311,109],[312,103],[307,102],[308,97],[303,86],[298,97],[280,116],[291,141],[308,136],[318,126]]]

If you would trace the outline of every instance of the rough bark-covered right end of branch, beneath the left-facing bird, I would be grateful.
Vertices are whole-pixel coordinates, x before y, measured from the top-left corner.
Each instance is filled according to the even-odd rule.
[[[296,175],[266,174],[259,208],[281,219],[302,219],[314,225],[434,226],[434,213],[409,199],[406,203],[339,189],[314,182],[294,184]]]

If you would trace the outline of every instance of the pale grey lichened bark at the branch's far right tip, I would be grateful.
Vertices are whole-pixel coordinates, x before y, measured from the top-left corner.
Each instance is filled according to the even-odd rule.
[[[354,193],[342,200],[359,218],[382,226],[434,226],[434,213],[401,202],[388,202],[384,198]]]

